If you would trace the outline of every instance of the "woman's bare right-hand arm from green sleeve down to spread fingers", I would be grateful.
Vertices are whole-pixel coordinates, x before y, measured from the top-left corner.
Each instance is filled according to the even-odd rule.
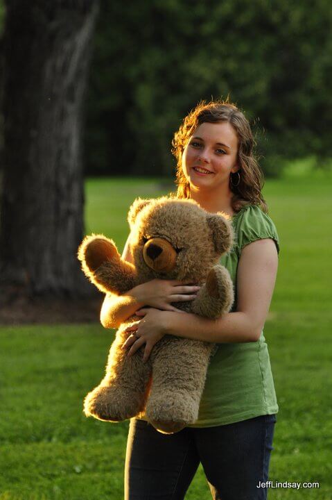
[[[155,342],[166,334],[216,343],[256,342],[268,315],[277,267],[277,249],[273,240],[248,244],[238,263],[236,312],[213,320],[193,314],[143,309],[138,311],[143,319],[128,328],[128,331],[137,330],[139,338],[130,336],[125,347],[132,345],[129,351],[132,354],[146,343],[148,357]]]

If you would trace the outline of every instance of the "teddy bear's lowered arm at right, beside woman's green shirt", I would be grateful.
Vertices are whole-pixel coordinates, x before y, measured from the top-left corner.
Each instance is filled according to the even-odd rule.
[[[229,272],[222,265],[216,265],[193,301],[192,310],[197,315],[217,319],[230,310],[233,301],[233,283]]]

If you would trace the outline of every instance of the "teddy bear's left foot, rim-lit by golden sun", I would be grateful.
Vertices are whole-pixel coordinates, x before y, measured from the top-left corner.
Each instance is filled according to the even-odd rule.
[[[137,415],[144,406],[143,398],[134,398],[132,394],[115,394],[110,387],[96,387],[87,394],[84,412],[87,417],[94,417],[107,422],[122,422]]]

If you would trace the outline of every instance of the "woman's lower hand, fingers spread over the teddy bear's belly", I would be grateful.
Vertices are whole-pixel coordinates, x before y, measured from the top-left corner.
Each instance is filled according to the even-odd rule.
[[[137,316],[141,319],[132,323],[125,329],[132,332],[132,335],[123,344],[123,349],[129,349],[128,356],[132,356],[143,344],[146,344],[143,354],[145,363],[154,345],[167,333],[166,321],[164,321],[164,311],[159,309],[141,309],[137,311]]]

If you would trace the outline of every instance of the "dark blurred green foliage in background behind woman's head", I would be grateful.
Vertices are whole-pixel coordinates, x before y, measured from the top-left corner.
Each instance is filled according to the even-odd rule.
[[[278,0],[101,2],[88,98],[87,169],[170,175],[171,138],[200,99],[246,111],[267,174],[328,156],[332,10]]]

